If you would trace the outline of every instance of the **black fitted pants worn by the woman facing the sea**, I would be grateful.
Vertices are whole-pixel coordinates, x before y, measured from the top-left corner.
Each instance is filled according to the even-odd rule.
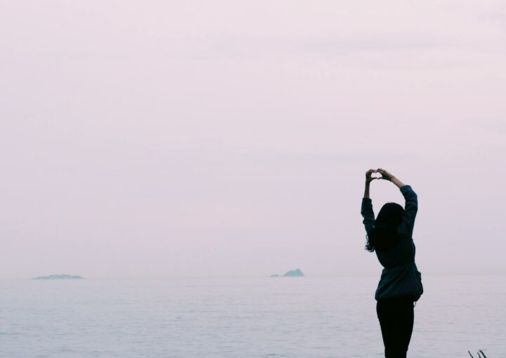
[[[377,301],[386,358],[406,357],[413,332],[413,307],[413,299],[408,297]]]

